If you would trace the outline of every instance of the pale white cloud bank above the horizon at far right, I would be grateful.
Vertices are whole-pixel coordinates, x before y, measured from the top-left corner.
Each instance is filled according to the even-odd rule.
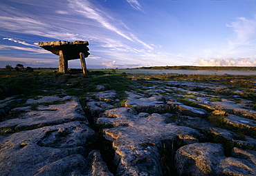
[[[231,66],[233,64],[235,66],[241,62],[237,62],[237,59],[235,61],[230,60],[230,58],[256,57],[256,16],[252,19],[239,17],[235,21],[226,24],[226,27],[231,29],[230,37],[226,38],[226,43],[219,47],[202,50],[202,57],[208,58],[205,61],[200,60],[202,65]],[[225,59],[226,62],[222,59]],[[241,63],[241,65],[243,66],[244,63]]]

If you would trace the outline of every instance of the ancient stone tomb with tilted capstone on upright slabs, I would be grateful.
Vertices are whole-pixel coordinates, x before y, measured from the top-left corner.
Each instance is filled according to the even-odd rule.
[[[59,56],[59,72],[66,73],[68,70],[68,61],[79,59],[82,65],[82,71],[86,73],[85,57],[90,55],[88,41],[46,41],[39,42],[38,45],[45,50],[53,52]]]

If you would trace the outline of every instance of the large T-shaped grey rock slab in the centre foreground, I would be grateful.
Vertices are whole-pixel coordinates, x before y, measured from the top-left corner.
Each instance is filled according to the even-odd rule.
[[[136,115],[134,108],[107,110],[100,115],[97,124],[109,124],[108,119],[116,126],[104,129],[104,135],[113,141],[117,175],[161,175],[157,148],[161,141],[182,140],[191,144],[202,137],[197,130],[170,124],[170,119],[162,115]]]

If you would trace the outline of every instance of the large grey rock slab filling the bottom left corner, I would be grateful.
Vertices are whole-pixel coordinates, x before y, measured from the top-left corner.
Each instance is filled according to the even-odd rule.
[[[87,138],[93,134],[86,124],[73,121],[1,137],[1,175],[40,175],[46,168],[57,165],[59,170],[75,171],[82,155],[88,153]],[[71,165],[60,164],[65,157],[74,159],[68,161]]]

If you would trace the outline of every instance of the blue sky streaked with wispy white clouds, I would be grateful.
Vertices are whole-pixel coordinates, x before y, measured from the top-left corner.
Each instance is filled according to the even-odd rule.
[[[0,0],[0,68],[58,66],[39,41],[89,41],[88,68],[256,66],[255,0]],[[80,60],[68,61],[80,68]]]

